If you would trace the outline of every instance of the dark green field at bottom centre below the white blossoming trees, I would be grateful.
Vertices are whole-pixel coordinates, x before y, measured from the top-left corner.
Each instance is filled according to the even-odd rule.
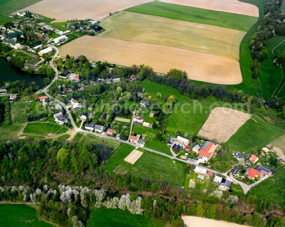
[[[163,227],[165,223],[143,215],[133,215],[120,209],[90,209],[86,227]]]

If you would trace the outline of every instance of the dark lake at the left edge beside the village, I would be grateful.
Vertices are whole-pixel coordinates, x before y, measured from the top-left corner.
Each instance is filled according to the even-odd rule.
[[[36,82],[40,88],[45,86],[43,75],[31,75],[27,72],[16,68],[9,64],[6,59],[0,57],[0,80],[3,81],[16,81],[16,80],[27,80],[27,82]]]

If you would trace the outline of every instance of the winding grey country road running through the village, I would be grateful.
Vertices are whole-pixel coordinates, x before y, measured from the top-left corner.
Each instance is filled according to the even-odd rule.
[[[75,132],[89,133],[89,134],[92,134],[92,135],[95,135],[95,136],[99,136],[100,138],[113,139],[113,140],[119,141],[119,142],[121,142],[121,143],[126,143],[126,144],[132,145],[132,146],[134,146],[134,147],[138,147],[136,144],[131,143],[131,142],[129,142],[129,141],[117,139],[117,138],[114,138],[114,137],[111,137],[111,136],[105,136],[104,134],[98,134],[98,133],[96,133],[96,132],[90,132],[90,131],[87,131],[87,130],[78,128],[78,127],[76,126],[76,124],[75,124],[75,122],[74,122],[74,119],[72,118],[72,115],[71,115],[70,111],[67,109],[66,105],[65,105],[63,102],[59,101],[58,99],[52,97],[52,96],[47,92],[47,89],[52,85],[52,83],[53,83],[53,82],[57,79],[57,77],[58,77],[58,71],[57,71],[57,69],[54,67],[53,62],[54,62],[54,59],[55,59],[55,58],[57,57],[57,55],[59,54],[58,48],[56,48],[55,46],[50,45],[50,44],[48,44],[48,46],[51,47],[51,48],[53,48],[53,49],[55,49],[55,51],[56,51],[56,53],[54,54],[54,56],[52,57],[52,59],[51,59],[51,61],[50,61],[50,67],[54,70],[54,72],[56,73],[56,75],[55,75],[54,79],[50,82],[50,84],[48,84],[48,86],[46,86],[42,91],[43,91],[49,98],[53,99],[54,101],[57,101],[60,105],[62,105],[62,107],[65,109],[66,113],[68,114],[68,117],[69,117],[69,119],[70,119],[70,121],[71,121],[71,124],[72,124],[72,126],[73,126]],[[135,113],[135,111],[134,111],[134,113]],[[133,120],[132,120],[132,124],[133,124]],[[130,133],[130,134],[131,134],[131,133]],[[197,163],[196,163],[196,160],[194,160],[194,159],[184,160],[184,159],[176,158],[176,155],[175,155],[174,152],[172,153],[173,155],[171,156],[171,155],[167,155],[167,154],[164,154],[164,153],[162,153],[162,152],[155,151],[155,150],[153,150],[153,149],[149,149],[149,148],[146,148],[146,147],[144,147],[144,149],[147,150],[147,151],[150,151],[150,152],[153,152],[153,153],[156,153],[156,154],[159,154],[159,155],[168,157],[168,158],[170,158],[170,159],[175,159],[175,160],[178,160],[178,161],[181,161],[181,162],[184,162],[184,163],[188,163],[188,164],[200,166],[200,167],[205,168],[205,169],[207,169],[207,170],[213,171],[215,174],[217,173],[217,171],[215,171],[215,170],[212,170],[212,169],[209,169],[209,168],[206,168],[206,167],[204,167],[204,166],[201,166],[201,165],[197,164]],[[172,151],[172,149],[171,149],[171,151]],[[254,187],[255,185],[257,185],[257,184],[259,184],[259,183],[261,182],[261,179],[260,179],[259,181],[255,182],[255,183],[253,183],[253,184],[251,184],[251,185],[247,185],[247,184],[245,184],[245,183],[243,183],[243,182],[241,182],[241,181],[239,181],[239,180],[237,180],[237,179],[235,179],[235,178],[233,178],[233,177],[231,177],[231,176],[227,176],[225,173],[220,173],[220,174],[223,175],[223,176],[225,176],[225,177],[227,177],[227,178],[230,178],[231,180],[233,180],[233,182],[239,184],[239,185],[241,186],[241,188],[243,189],[243,192],[244,192],[245,194],[249,191],[249,189],[251,189],[252,187]]]

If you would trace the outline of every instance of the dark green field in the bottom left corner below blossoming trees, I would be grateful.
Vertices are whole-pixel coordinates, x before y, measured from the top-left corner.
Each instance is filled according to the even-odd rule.
[[[39,220],[36,210],[25,204],[0,204],[0,225],[21,227],[52,227]]]

